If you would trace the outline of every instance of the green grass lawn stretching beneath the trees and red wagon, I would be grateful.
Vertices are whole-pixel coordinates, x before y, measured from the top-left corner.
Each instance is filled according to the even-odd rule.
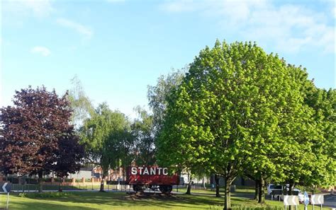
[[[135,196],[125,192],[52,192],[44,193],[42,198],[29,197],[34,197],[34,194],[30,193],[28,197],[20,197],[18,194],[11,193],[9,209],[223,209],[223,197],[216,198],[211,194],[203,193],[177,194],[168,197],[161,194]],[[231,201],[234,209],[271,206],[277,206],[277,208],[272,209],[278,210],[284,208],[282,202],[269,200],[267,200],[267,204],[263,205],[244,197],[232,197]],[[6,197],[1,194],[0,208],[4,208],[5,202]],[[303,205],[301,204],[298,209],[303,210]],[[308,210],[310,209],[312,209],[311,206]],[[324,208],[324,210],[327,209],[329,210],[329,208]]]

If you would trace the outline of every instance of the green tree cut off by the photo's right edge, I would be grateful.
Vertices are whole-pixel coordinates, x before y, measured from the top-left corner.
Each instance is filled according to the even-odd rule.
[[[305,173],[298,183],[313,189],[333,186],[336,183],[336,90],[316,88],[313,81],[307,79],[306,71],[298,69],[293,72],[303,83],[304,103],[313,109],[313,119],[320,134],[311,142],[314,160],[308,165],[309,173]]]

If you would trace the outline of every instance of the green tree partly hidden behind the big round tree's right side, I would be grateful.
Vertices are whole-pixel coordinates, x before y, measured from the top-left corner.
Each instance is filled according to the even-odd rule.
[[[296,183],[307,180],[315,163],[314,142],[321,138],[319,124],[313,119],[313,109],[305,103],[306,92],[315,86],[308,81],[306,69],[301,66],[289,64],[286,69],[291,78],[291,93],[284,101],[285,106],[281,107],[281,117],[276,119],[279,129],[267,132],[271,136],[263,141],[249,144],[252,153],[244,167],[244,173],[259,186],[260,203],[264,202],[264,183],[267,180],[289,183],[289,194]],[[274,97],[277,96],[272,95]]]

